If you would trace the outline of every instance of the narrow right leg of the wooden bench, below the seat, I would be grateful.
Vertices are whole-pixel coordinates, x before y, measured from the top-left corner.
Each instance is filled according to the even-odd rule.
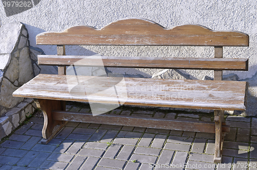
[[[222,162],[222,147],[225,133],[222,132],[223,111],[214,111],[215,121],[215,154],[214,163]]]

